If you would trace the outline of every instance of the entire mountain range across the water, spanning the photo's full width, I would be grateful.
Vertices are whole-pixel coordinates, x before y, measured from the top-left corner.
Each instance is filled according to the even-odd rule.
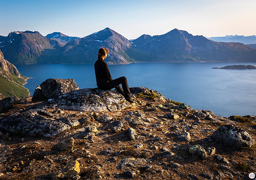
[[[109,64],[132,62],[255,62],[256,49],[242,43],[225,43],[193,36],[173,29],[166,34],[143,34],[129,41],[106,28],[85,37],[69,37],[60,32],[46,37],[38,31],[15,31],[0,36],[0,49],[13,64],[94,63],[98,50],[108,48]]]

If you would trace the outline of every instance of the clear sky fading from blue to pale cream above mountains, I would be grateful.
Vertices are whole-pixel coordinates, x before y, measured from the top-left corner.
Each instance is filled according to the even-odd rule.
[[[128,39],[172,29],[206,37],[256,35],[256,0],[1,0],[0,35],[58,31],[84,37],[109,27]]]

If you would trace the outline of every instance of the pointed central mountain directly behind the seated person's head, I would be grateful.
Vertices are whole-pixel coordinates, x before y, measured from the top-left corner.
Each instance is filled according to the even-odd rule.
[[[128,39],[106,28],[81,39],[70,41],[52,59],[55,63],[94,63],[97,60],[99,48],[105,47],[110,50],[106,62],[130,63],[135,61],[126,53],[130,46]]]

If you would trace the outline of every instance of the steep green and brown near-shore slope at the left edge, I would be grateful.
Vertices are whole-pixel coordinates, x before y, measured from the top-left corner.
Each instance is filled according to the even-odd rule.
[[[13,64],[4,59],[0,50],[0,98],[3,96],[27,97],[29,91],[23,87],[25,83],[26,77],[22,76]]]

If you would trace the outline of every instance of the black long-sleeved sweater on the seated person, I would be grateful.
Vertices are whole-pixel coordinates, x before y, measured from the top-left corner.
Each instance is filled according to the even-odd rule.
[[[105,83],[113,80],[108,69],[108,64],[103,60],[97,60],[94,64],[94,70],[96,75],[96,82],[98,88],[102,87]]]

